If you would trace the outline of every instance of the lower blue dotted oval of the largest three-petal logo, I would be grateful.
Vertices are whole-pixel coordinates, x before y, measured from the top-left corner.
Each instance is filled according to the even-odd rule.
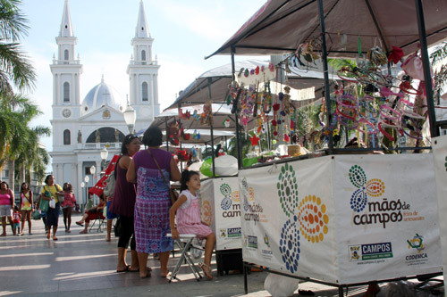
[[[287,270],[294,273],[298,270],[299,262],[299,230],[295,220],[287,220],[284,224],[279,249]]]

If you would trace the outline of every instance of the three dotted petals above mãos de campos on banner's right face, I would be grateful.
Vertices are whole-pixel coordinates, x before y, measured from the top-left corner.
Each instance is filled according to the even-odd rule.
[[[350,208],[360,212],[367,206],[368,196],[379,197],[385,192],[385,184],[378,178],[367,181],[367,174],[358,165],[350,168],[350,182],[358,187],[350,197]]]

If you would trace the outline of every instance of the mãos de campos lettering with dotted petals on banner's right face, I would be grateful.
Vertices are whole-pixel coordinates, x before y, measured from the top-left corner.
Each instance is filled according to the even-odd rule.
[[[353,217],[355,225],[374,225],[382,224],[385,228],[389,222],[400,222],[403,219],[402,211],[409,210],[407,202],[388,200],[382,198],[382,201],[374,198],[381,197],[385,192],[384,182],[381,179],[374,178],[367,181],[365,171],[358,165],[350,168],[350,182],[358,189],[354,191],[350,198],[350,208],[358,212]],[[367,210],[367,213],[361,213]]]

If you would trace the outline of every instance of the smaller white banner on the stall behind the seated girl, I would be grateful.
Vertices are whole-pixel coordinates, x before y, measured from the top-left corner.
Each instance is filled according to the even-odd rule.
[[[202,220],[215,233],[215,250],[241,248],[240,194],[238,177],[217,177],[202,181]]]

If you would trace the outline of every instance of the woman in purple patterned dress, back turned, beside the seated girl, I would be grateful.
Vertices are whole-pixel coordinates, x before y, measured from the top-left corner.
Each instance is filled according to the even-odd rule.
[[[169,252],[173,240],[166,234],[171,232],[169,209],[171,200],[166,180],[180,180],[181,173],[171,153],[160,150],[162,131],[148,128],[143,136],[147,150],[136,153],[127,171],[127,180],[137,183],[135,203],[135,238],[139,256],[139,277],[150,276],[146,269],[149,253],[160,257],[160,276],[168,275]],[[163,172],[162,177],[160,171]]]

